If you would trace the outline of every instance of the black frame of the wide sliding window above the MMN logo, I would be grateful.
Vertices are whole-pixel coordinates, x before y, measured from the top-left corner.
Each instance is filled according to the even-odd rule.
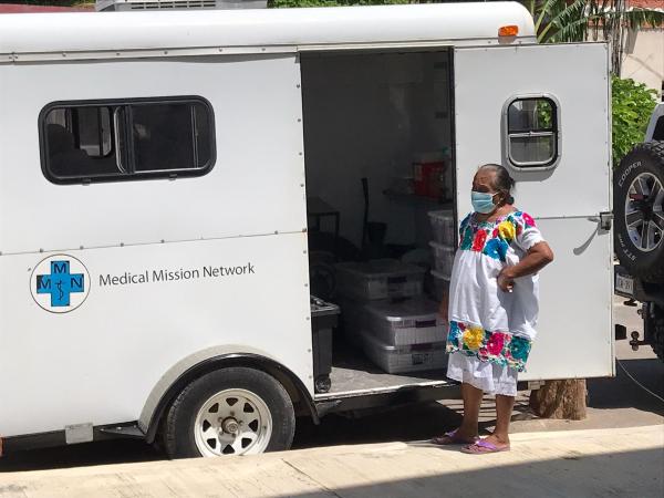
[[[127,125],[131,125],[132,105],[149,105],[149,104],[201,104],[207,111],[207,125],[209,129],[209,147],[210,157],[203,167],[187,168],[187,169],[159,169],[148,172],[136,172],[133,167],[134,162],[134,137],[132,133],[128,133]],[[123,151],[117,148],[118,129],[115,126],[115,113],[111,112],[111,152],[115,153],[116,164],[122,164],[125,168],[127,164],[132,165],[129,172],[118,173],[113,175],[98,175],[98,176],[58,176],[55,175],[49,165],[49,142],[46,135],[46,116],[55,108],[73,108],[73,107],[116,107],[122,110],[120,113],[121,122],[123,124],[122,133],[123,143],[125,146]],[[117,181],[138,181],[138,180],[151,180],[151,179],[169,179],[174,180],[177,178],[193,178],[205,176],[212,170],[217,163],[217,135],[215,127],[215,111],[210,102],[200,95],[178,95],[178,96],[162,96],[162,97],[138,97],[138,98],[95,98],[95,100],[68,100],[68,101],[55,101],[46,104],[39,113],[39,149],[40,149],[40,163],[41,169],[44,177],[55,185],[90,185],[90,184],[102,184],[102,183],[117,183]],[[195,144],[195,146],[197,146]],[[122,156],[122,157],[121,157]],[[98,156],[97,156],[98,157]],[[121,163],[117,163],[117,159]]]

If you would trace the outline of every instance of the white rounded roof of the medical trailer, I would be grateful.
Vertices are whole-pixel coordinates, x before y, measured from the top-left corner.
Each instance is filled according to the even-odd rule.
[[[533,41],[532,18],[517,2],[11,14],[0,15],[0,53],[17,54],[9,58],[14,61],[21,60],[18,54],[58,52],[496,43],[502,25],[519,28],[518,42]]]

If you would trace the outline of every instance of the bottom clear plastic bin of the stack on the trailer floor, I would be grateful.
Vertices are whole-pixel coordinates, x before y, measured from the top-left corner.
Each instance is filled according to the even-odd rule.
[[[444,342],[394,346],[366,331],[362,341],[366,356],[387,373],[438,370],[447,365]]]

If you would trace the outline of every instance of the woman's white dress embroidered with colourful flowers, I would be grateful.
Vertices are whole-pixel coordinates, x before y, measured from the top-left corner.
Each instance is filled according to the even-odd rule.
[[[470,214],[459,236],[449,288],[447,376],[513,396],[537,333],[538,276],[516,279],[512,292],[500,290],[497,277],[543,238],[522,211],[495,221],[477,221]]]

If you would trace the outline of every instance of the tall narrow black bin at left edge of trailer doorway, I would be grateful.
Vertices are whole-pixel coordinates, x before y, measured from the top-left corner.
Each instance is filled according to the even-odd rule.
[[[332,330],[339,319],[339,307],[321,299],[310,299],[313,350],[313,386],[317,393],[326,393],[332,386]]]

